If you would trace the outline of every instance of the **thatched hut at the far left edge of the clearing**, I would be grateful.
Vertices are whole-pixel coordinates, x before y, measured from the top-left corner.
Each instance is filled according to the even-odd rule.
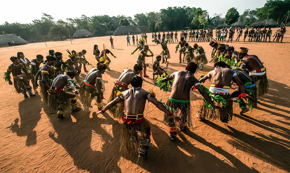
[[[28,44],[24,39],[15,34],[0,35],[0,47]]]

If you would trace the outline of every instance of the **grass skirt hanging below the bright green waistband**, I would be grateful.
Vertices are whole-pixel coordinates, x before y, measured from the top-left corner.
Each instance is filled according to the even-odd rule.
[[[166,113],[164,113],[164,122],[168,124],[172,124],[173,126],[176,125],[185,125],[186,127],[192,127],[192,120],[191,120],[191,105],[189,103],[175,103],[172,102],[169,98],[166,102],[166,105],[175,109],[175,115],[182,119],[182,124],[179,124],[178,121],[172,119]]]

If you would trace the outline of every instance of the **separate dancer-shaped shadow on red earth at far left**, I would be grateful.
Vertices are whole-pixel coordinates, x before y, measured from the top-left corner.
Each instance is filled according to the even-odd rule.
[[[37,126],[41,118],[40,112],[42,105],[41,97],[36,90],[35,94],[35,97],[26,98],[19,102],[20,125],[18,124],[19,119],[16,118],[10,128],[17,136],[27,136],[26,146],[35,145],[37,142],[36,131],[33,129]],[[31,105],[34,105],[32,109]]]

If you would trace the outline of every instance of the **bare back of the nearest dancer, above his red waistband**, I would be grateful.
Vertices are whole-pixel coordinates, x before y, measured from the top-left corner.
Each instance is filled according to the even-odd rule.
[[[135,91],[133,88],[124,91],[122,97],[124,98],[125,113],[143,114],[148,94],[149,92],[142,88],[137,88]]]

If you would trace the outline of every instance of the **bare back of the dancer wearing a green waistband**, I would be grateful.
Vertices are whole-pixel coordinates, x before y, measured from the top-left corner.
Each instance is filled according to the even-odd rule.
[[[191,88],[199,81],[186,71],[177,71],[171,75],[173,75],[174,81],[170,97],[176,100],[189,100]]]

